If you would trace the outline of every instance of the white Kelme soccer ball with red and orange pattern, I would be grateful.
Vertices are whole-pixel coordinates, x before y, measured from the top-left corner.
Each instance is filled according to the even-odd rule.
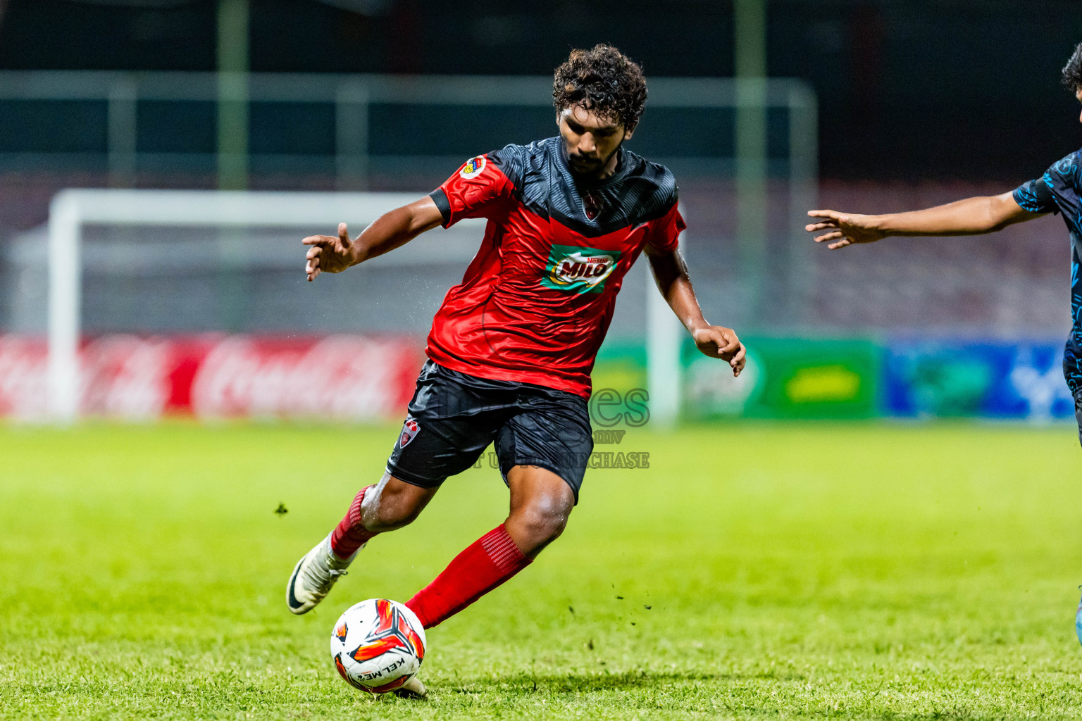
[[[424,660],[424,628],[397,601],[369,599],[346,609],[331,632],[331,659],[349,685],[373,694],[401,687]]]

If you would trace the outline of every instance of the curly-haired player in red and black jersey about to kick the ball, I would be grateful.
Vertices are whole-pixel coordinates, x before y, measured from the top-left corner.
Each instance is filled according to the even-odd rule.
[[[672,173],[623,148],[646,103],[642,69],[608,45],[576,50],[556,69],[553,99],[558,136],[470,159],[354,240],[344,223],[337,237],[304,239],[311,281],[436,226],[488,218],[480,250],[433,321],[428,360],[386,471],[298,562],[287,588],[293,613],[319,603],[372,536],[415,519],[489,443],[511,491],[506,520],[406,605],[431,628],[559,536],[593,450],[590,372],[639,253],[699,350],[734,374],[743,368],[736,333],[708,323],[691,290]]]

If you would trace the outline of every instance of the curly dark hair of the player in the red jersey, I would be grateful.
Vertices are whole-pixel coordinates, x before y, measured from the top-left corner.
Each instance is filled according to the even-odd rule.
[[[572,50],[567,62],[556,68],[552,104],[557,112],[581,105],[633,130],[646,106],[646,78],[637,63],[612,45]]]

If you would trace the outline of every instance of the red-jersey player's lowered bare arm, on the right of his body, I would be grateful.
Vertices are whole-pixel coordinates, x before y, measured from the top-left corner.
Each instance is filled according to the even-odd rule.
[[[691,288],[691,279],[687,275],[687,264],[679,250],[659,251],[647,244],[644,252],[650,261],[650,270],[654,271],[658,290],[695,338],[695,345],[711,358],[728,361],[733,375],[740,375],[744,366],[743,344],[731,328],[711,325],[702,317],[702,309]]]

